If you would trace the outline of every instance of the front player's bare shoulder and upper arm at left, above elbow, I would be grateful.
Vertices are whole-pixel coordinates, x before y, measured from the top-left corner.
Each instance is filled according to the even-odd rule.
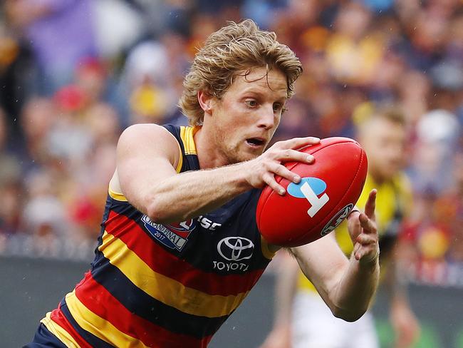
[[[146,213],[150,195],[157,183],[176,175],[180,160],[177,140],[156,125],[135,125],[120,136],[117,150],[117,172],[125,198]]]

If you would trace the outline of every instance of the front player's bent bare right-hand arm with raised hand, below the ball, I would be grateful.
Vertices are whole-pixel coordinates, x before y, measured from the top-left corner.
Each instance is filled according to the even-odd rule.
[[[374,210],[375,191],[372,191],[365,213],[355,212],[348,218],[354,242],[350,260],[329,236],[291,248],[301,270],[333,314],[347,321],[355,321],[366,312],[378,287],[379,247]]]

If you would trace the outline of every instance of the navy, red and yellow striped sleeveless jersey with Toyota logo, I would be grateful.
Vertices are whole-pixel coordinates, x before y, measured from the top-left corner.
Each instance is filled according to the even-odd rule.
[[[199,170],[194,128],[165,128],[179,143],[177,172]],[[258,199],[249,190],[162,225],[109,190],[90,270],[41,322],[68,347],[207,347],[273,257]]]

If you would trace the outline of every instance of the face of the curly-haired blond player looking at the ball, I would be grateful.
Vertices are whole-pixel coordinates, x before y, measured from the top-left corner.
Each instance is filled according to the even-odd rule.
[[[241,74],[243,75],[243,74]],[[212,98],[204,115],[219,155],[238,163],[261,155],[280,123],[287,96],[286,76],[279,70],[252,68],[235,76],[222,98]]]

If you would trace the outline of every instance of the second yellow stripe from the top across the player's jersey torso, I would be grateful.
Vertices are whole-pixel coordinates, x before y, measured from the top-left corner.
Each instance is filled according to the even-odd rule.
[[[80,327],[114,347],[147,347],[140,340],[120,332],[113,324],[85,307],[76,297],[76,290],[66,295],[66,305]]]

